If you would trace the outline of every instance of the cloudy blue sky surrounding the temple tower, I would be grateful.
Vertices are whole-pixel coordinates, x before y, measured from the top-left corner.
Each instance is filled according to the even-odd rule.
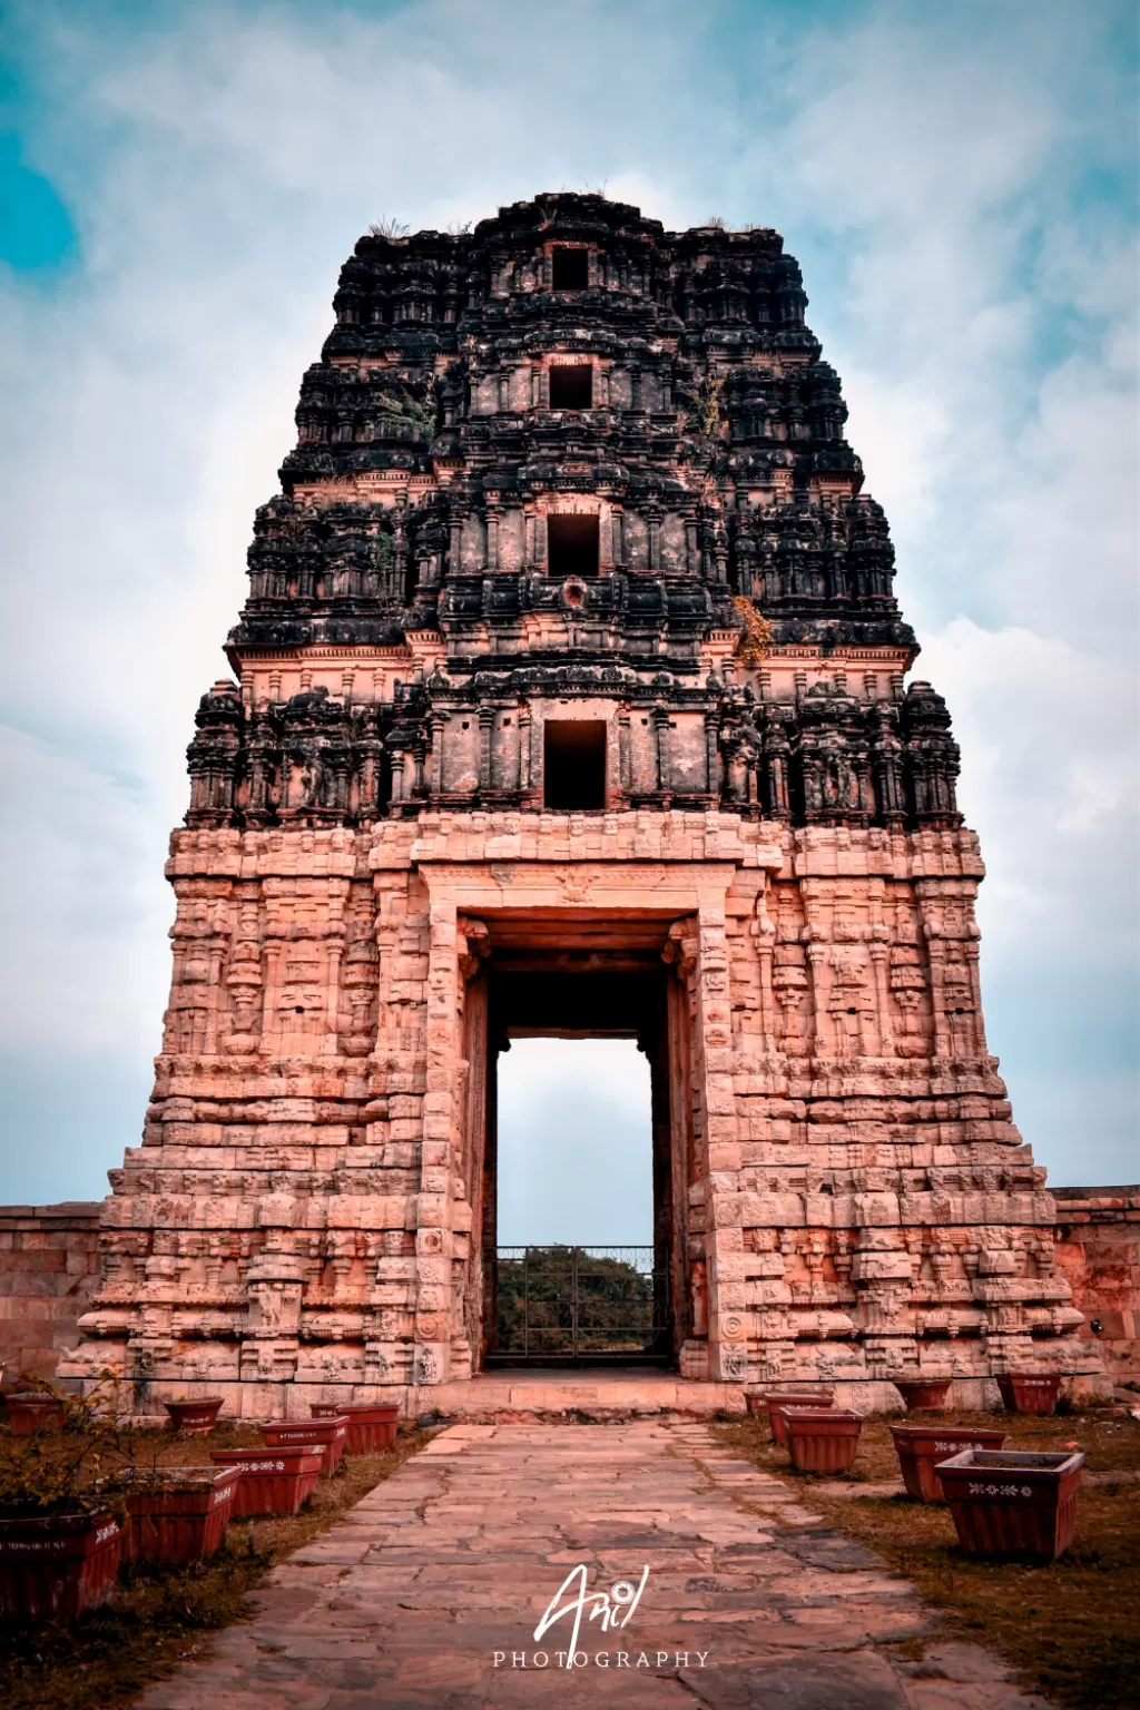
[[[137,1144],[185,746],[342,260],[559,188],[800,258],[962,744],[1015,1120],[1058,1185],[1140,1180],[1135,29],[1116,0],[9,0],[0,1202],[99,1197]]]

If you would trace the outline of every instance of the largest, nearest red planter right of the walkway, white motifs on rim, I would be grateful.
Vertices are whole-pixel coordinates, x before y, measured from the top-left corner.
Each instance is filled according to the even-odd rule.
[[[1056,1561],[1073,1537],[1085,1457],[964,1448],[938,1479],[967,1556]]]

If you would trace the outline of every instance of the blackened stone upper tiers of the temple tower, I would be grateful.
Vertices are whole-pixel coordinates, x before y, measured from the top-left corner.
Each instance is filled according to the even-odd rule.
[[[926,684],[902,694],[916,648],[887,522],[805,306],[776,233],[667,233],[595,195],[362,238],[229,657],[246,677],[330,650],[403,648],[410,667],[379,698],[311,674],[296,694],[217,686],[190,823],[540,804],[526,768],[450,788],[432,744],[463,710],[559,696],[706,720],[702,776],[660,759],[610,807],[957,824],[949,716]],[[771,658],[709,669],[742,600]],[[808,686],[820,658],[836,669]]]

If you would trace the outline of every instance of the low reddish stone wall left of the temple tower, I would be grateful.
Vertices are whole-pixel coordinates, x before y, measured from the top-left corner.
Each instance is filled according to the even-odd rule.
[[[0,1206],[0,1383],[55,1375],[99,1281],[99,1206]]]

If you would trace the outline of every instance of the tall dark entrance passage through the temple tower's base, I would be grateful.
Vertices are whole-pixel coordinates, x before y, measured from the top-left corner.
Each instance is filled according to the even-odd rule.
[[[554,918],[482,917],[482,923],[489,954],[467,1002],[472,1170],[482,1154],[472,1195],[479,1219],[479,1240],[472,1241],[479,1247],[472,1289],[479,1294],[479,1325],[472,1322],[479,1363],[487,1370],[672,1366],[689,1334],[682,1320],[690,1156],[685,1005],[673,970],[661,959],[672,920],[583,923],[579,917],[571,927]],[[504,1129],[508,1156],[501,1159],[501,1079],[506,1076],[513,1091],[509,1053],[526,1052],[532,1041],[607,1041],[626,1084],[639,1079],[644,1093],[641,1110],[627,1112],[634,1129],[644,1122],[644,1134],[632,1137],[632,1173],[615,1176],[603,1153],[581,1142],[583,1129],[574,1130],[569,1117],[571,1098],[564,1100],[569,1120],[533,1137],[537,1156],[526,1165],[533,1175],[545,1156],[559,1180],[557,1209],[533,1195],[528,1209],[520,1171],[504,1176],[501,1168],[511,1171],[520,1163],[518,1112]],[[598,1120],[605,1110],[595,1105],[595,1125]],[[578,1163],[586,1180],[574,1180]],[[612,1182],[636,1204],[624,1218],[620,1207],[615,1216],[608,1206],[598,1229],[596,1207]],[[473,1272],[475,1265],[472,1282]]]

